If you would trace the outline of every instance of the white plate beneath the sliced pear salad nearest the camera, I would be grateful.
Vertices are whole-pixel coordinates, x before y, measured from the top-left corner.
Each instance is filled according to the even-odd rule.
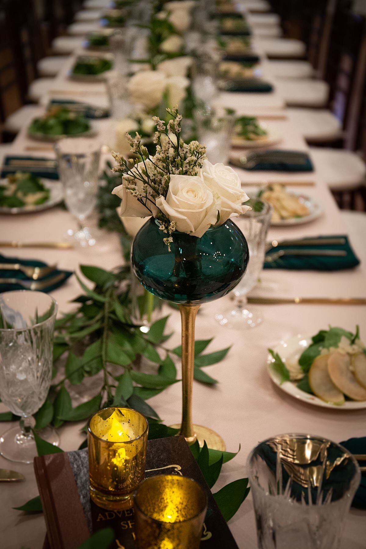
[[[281,360],[283,360],[286,365],[286,360],[289,360],[290,358],[295,360],[295,358],[301,355],[302,351],[304,351],[312,343],[311,338],[311,335],[294,335],[294,337],[286,341],[280,341],[280,343],[275,346],[273,350],[279,354]],[[269,373],[269,377],[272,379],[273,383],[279,387],[279,389],[285,391],[288,395],[294,396],[295,399],[299,399],[302,402],[307,402],[307,404],[312,404],[313,406],[332,408],[333,410],[362,410],[363,408],[366,408],[366,401],[357,402],[346,400],[345,404],[342,406],[336,406],[335,404],[329,404],[329,402],[318,399],[315,395],[305,393],[296,386],[297,382],[292,383],[285,381],[281,384],[279,374],[275,372],[272,367],[273,362],[274,358],[271,355],[268,355],[267,371]]]

